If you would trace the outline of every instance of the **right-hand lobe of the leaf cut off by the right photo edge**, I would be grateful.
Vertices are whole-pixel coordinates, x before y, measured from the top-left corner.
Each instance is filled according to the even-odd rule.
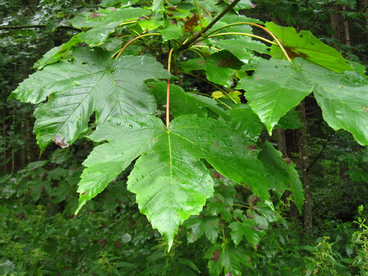
[[[351,132],[362,146],[368,145],[368,81],[352,72],[337,74],[296,59],[296,65],[314,83],[313,94],[323,118],[334,130]]]

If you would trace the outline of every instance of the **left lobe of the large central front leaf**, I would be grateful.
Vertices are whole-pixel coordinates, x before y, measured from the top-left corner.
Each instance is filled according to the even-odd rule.
[[[78,184],[80,195],[76,213],[88,200],[101,193],[137,156],[155,144],[154,139],[165,132],[159,119],[144,115],[137,117],[139,121],[129,117],[114,119],[114,124],[101,125],[88,137],[95,142],[109,143],[95,147],[83,163],[87,168]]]

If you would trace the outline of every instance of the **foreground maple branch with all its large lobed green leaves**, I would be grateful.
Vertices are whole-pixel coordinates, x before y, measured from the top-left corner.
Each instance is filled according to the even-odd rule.
[[[137,158],[128,190],[168,250],[183,221],[213,195],[209,168],[251,189],[270,210],[269,190],[289,189],[301,210],[302,184],[293,164],[259,137],[262,126],[271,135],[312,92],[331,128],[368,144],[365,69],[311,32],[238,14],[252,7],[246,0],[155,0],[139,8],[133,7],[137,1],[123,2],[109,8],[104,1],[104,8],[72,19],[83,31],[47,52],[37,72],[10,95],[38,104],[34,131],[41,152],[52,142],[68,147],[97,126],[88,139],[101,144],[84,161],[78,210]],[[217,93],[186,91],[185,75]],[[243,236],[252,244],[260,239],[251,219],[230,227],[235,246]],[[242,253],[236,250],[229,246],[217,257],[237,263]],[[222,270],[217,265],[213,271]]]

